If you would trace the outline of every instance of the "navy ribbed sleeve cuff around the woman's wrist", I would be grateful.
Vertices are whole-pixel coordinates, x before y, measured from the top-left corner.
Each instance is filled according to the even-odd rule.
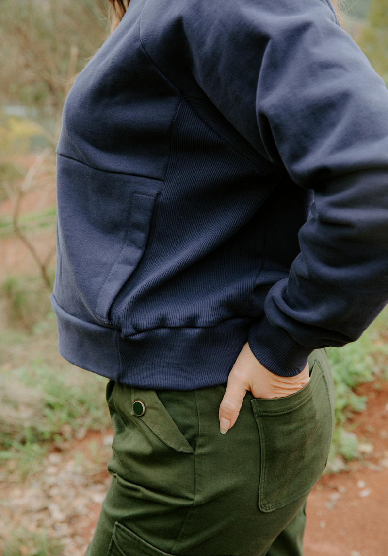
[[[313,348],[298,344],[283,328],[272,326],[265,316],[249,329],[249,347],[266,369],[279,376],[295,376],[303,371]]]

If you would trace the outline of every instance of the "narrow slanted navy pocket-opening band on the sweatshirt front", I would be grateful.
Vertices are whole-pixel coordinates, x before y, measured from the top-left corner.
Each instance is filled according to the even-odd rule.
[[[95,312],[105,324],[109,321],[109,310],[120,289],[133,273],[142,258],[149,228],[155,197],[134,193],[128,223],[127,239],[124,247],[109,272],[107,279],[99,293]]]

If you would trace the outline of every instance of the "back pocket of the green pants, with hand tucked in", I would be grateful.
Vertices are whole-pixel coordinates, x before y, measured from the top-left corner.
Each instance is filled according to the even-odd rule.
[[[333,426],[333,388],[323,350],[309,384],[286,398],[253,399],[259,429],[259,508],[273,512],[313,488],[325,468]]]

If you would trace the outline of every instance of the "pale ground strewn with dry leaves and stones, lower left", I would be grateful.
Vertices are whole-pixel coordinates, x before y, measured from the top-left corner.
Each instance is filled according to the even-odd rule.
[[[61,556],[83,556],[110,483],[106,463],[112,433],[88,431],[82,440],[57,445],[40,472],[28,476],[23,484],[12,483],[9,475],[8,480],[2,478],[2,542],[22,538],[18,545],[22,556],[41,554],[34,551],[34,538],[44,532],[62,544]]]

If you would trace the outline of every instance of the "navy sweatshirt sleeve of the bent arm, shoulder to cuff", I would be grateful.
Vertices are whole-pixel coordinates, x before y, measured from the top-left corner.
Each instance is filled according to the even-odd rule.
[[[249,331],[256,358],[293,376],[314,349],[356,340],[387,303],[388,92],[325,0],[209,4],[188,32],[196,81],[315,192],[300,254]]]

